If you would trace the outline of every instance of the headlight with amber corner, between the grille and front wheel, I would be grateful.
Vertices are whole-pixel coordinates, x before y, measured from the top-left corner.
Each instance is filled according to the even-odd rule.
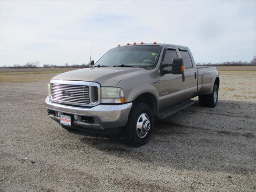
[[[118,87],[101,87],[100,88],[102,103],[124,103],[124,92]]]

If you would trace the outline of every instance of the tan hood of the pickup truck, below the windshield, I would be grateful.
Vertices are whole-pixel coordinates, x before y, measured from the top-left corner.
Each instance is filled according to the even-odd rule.
[[[120,80],[148,70],[129,67],[85,68],[59,74],[52,80],[76,80],[98,82],[101,86],[116,86]]]

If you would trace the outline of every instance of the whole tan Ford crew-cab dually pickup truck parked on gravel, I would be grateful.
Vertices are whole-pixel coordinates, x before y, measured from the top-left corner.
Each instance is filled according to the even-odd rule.
[[[196,67],[189,48],[173,44],[118,45],[90,68],[52,78],[47,114],[67,130],[124,132],[132,146],[146,144],[154,118],[163,119],[194,103],[215,107],[216,67]]]

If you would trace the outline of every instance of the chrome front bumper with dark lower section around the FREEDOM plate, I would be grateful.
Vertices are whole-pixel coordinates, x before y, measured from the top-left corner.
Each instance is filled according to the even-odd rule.
[[[47,112],[55,122],[60,122],[59,114],[75,115],[72,126],[92,130],[106,130],[125,126],[128,120],[132,103],[120,105],[97,105],[92,108],[68,106],[65,104],[54,103],[51,97],[46,97],[45,106]],[[50,114],[50,112],[52,112]],[[86,122],[83,117],[93,118],[94,121]]]

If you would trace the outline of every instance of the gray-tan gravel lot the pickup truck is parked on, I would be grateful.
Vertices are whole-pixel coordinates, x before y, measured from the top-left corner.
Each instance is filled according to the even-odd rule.
[[[250,74],[220,74],[216,108],[197,102],[156,122],[140,148],[54,124],[44,100],[55,74],[1,83],[0,191],[256,191]]]

